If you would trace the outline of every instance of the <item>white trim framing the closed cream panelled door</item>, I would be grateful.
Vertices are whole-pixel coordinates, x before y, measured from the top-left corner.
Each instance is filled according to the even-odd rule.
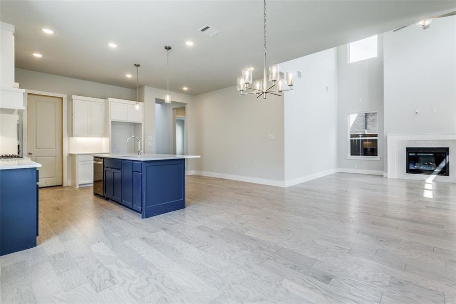
[[[62,172],[62,185],[66,186],[71,183],[68,183],[68,149],[69,149],[69,139],[68,139],[68,95],[59,94],[52,92],[36,91],[25,89],[24,92],[24,106],[25,109],[22,111],[22,155],[27,151],[27,110],[28,110],[28,94],[44,95],[44,96],[53,96],[62,98],[62,147],[63,147],[63,172]]]

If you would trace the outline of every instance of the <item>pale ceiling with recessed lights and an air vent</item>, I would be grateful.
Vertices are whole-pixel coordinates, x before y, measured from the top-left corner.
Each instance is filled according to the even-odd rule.
[[[389,31],[454,10],[455,1],[269,1],[267,64]],[[16,26],[16,67],[135,88],[199,94],[236,84],[241,69],[263,65],[262,1],[1,1]],[[221,31],[208,37],[204,25]],[[41,28],[49,27],[48,35]],[[193,41],[188,47],[186,41]],[[114,42],[116,49],[107,46]],[[42,58],[31,54],[39,52]],[[305,72],[305,71],[304,71]]]

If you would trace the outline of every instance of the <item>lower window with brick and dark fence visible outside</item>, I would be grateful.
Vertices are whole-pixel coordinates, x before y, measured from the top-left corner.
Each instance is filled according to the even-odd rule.
[[[349,156],[379,156],[379,113],[349,113]]]

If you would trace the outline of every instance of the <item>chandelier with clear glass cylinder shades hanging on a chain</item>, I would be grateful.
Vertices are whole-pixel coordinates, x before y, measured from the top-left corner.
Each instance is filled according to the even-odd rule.
[[[253,68],[246,67],[242,69],[242,76],[237,78],[237,90],[240,92],[239,95],[256,94],[257,98],[263,96],[263,99],[266,99],[267,94],[282,96],[281,93],[283,91],[292,91],[293,85],[295,84],[295,71],[286,72],[285,79],[282,79],[280,78],[280,69],[278,64],[273,64],[269,66],[269,81],[272,85],[271,83],[268,84],[266,77],[266,0],[263,2],[263,17],[263,80],[257,80],[253,83],[253,87],[249,87],[248,85],[252,84]],[[288,88],[286,88],[285,85]],[[246,89],[252,90],[253,92],[245,93],[244,91]]]

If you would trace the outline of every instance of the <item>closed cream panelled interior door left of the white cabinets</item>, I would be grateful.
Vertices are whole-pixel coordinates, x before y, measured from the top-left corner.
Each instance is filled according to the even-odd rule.
[[[62,184],[62,98],[28,94],[27,157],[42,164],[39,186]]]

